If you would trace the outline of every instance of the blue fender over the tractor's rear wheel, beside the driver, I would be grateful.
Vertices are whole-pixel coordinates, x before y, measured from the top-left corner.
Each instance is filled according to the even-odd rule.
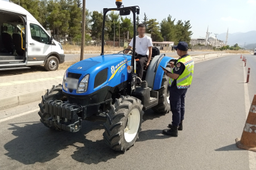
[[[163,69],[160,67],[166,67],[168,62],[172,60],[173,57],[165,56],[165,54],[157,55],[151,61],[146,74],[146,81],[148,82],[149,88],[153,90],[158,90],[161,88],[161,83],[163,79]]]

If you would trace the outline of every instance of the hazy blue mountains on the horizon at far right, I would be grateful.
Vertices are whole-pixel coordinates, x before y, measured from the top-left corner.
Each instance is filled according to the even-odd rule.
[[[217,35],[218,40],[226,41],[226,33]],[[240,47],[244,47],[250,44],[256,43],[256,31],[248,31],[247,33],[229,33],[228,34],[228,45],[235,45],[238,43]]]

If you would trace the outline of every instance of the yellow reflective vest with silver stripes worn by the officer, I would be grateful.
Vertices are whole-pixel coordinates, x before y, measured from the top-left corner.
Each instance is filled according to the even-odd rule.
[[[180,76],[178,76],[177,88],[178,89],[190,88],[190,85],[193,79],[193,74],[194,74],[194,60],[192,59],[192,57],[190,57],[190,55],[188,55],[187,57],[178,59],[178,62],[182,62],[185,65],[185,70]],[[172,70],[172,73],[173,73],[173,70]],[[174,79],[170,79],[169,83],[172,84],[173,81]]]

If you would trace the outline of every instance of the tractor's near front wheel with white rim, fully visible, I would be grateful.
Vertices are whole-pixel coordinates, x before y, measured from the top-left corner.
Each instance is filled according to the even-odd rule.
[[[143,121],[143,105],[137,98],[121,96],[115,99],[104,123],[105,143],[113,150],[125,152],[132,147],[139,138],[141,123]]]

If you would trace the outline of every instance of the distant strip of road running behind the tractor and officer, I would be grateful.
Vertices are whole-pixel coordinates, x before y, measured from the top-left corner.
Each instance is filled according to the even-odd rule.
[[[214,53],[219,53],[219,52],[189,52],[190,55],[200,55],[200,54],[214,54]],[[173,57],[177,56],[176,52],[168,52],[165,53],[166,55]],[[88,59],[90,57],[95,57],[100,54],[84,54],[84,59]],[[70,61],[78,61],[80,59],[80,54],[65,54],[65,61],[70,62]]]

